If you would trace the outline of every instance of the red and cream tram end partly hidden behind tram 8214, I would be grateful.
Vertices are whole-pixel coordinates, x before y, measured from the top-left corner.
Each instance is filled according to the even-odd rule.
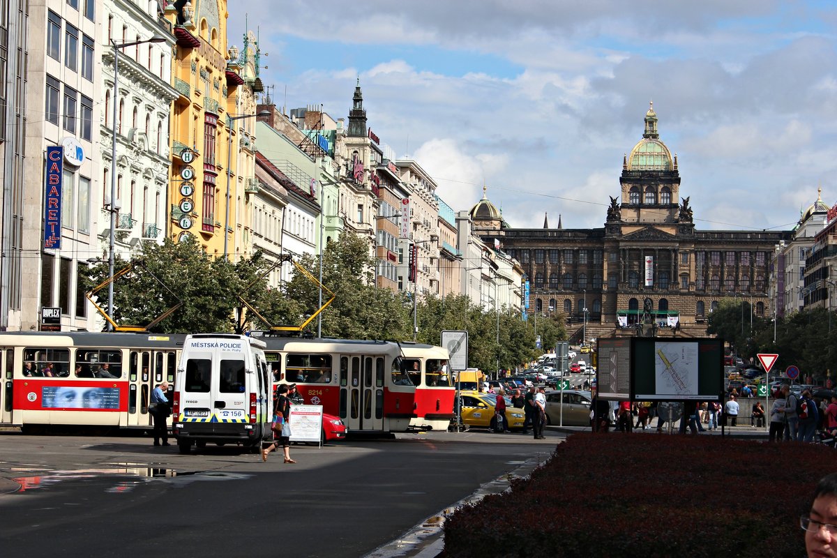
[[[456,387],[446,349],[411,341],[401,342],[401,366],[416,387],[416,417],[411,427],[447,430],[454,414]]]

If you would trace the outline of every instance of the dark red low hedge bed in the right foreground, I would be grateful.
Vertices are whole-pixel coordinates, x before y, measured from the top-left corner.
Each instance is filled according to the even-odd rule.
[[[719,436],[574,434],[529,479],[445,522],[449,557],[799,556],[832,448]]]

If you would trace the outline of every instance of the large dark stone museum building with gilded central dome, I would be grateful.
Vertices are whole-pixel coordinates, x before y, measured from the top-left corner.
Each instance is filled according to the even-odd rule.
[[[771,312],[773,248],[792,232],[696,230],[653,105],[619,184],[603,228],[562,228],[560,220],[548,228],[546,219],[543,228],[510,228],[485,195],[471,209],[475,233],[489,244],[498,238],[521,263],[529,315],[563,312],[578,342],[585,308],[588,340],[636,335],[637,324],[656,335],[706,335],[706,319],[724,298],[747,300],[756,315]]]

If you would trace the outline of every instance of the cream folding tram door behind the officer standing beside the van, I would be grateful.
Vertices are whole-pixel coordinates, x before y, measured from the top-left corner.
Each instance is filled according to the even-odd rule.
[[[166,380],[171,384],[166,397],[172,400],[177,355],[175,351],[131,351],[129,361],[128,426],[153,426],[154,420],[148,412],[151,391]]]

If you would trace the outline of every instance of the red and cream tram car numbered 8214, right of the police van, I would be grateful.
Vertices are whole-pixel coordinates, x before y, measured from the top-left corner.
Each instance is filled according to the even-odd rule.
[[[395,433],[415,417],[416,387],[389,341],[261,337],[275,386],[296,384],[352,433]]]

